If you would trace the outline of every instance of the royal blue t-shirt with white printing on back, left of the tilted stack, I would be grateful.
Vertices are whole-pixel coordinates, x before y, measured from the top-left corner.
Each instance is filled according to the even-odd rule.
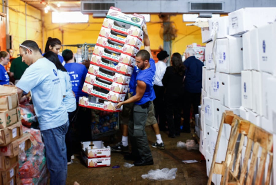
[[[84,65],[79,63],[68,63],[64,67],[71,77],[72,90],[76,95],[76,101],[79,102],[79,97],[88,96],[88,94],[82,92],[83,83],[88,71]]]

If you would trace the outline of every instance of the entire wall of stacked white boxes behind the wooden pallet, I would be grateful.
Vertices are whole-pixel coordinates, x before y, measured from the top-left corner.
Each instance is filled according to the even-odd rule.
[[[243,8],[225,17],[209,19],[209,29],[202,29],[202,40],[208,43],[202,74],[200,151],[206,159],[207,175],[225,110],[232,110],[266,131],[276,133],[273,120],[276,112],[275,12],[276,8]],[[208,30],[209,37],[206,37]],[[225,160],[230,129],[230,125],[224,124],[216,162]],[[276,135],[274,141],[276,146]],[[260,152],[258,157],[260,160]],[[276,160],[274,173],[275,169]],[[220,179],[220,175],[213,174],[215,184]],[[276,178],[272,175],[273,181],[275,184]]]

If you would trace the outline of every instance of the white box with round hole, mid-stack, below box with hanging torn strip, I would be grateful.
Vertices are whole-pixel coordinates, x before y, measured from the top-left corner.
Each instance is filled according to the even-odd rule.
[[[229,108],[241,106],[241,75],[219,73],[220,103]]]

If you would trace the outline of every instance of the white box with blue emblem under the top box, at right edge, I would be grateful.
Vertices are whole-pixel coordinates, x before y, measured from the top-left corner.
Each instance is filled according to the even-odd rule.
[[[275,63],[275,43],[272,40],[274,31],[273,24],[267,24],[258,29],[260,70],[271,74]]]

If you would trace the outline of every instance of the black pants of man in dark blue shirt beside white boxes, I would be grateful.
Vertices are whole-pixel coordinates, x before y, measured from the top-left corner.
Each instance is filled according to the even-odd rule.
[[[183,131],[184,132],[190,132],[190,111],[191,111],[191,105],[193,105],[194,113],[198,114],[198,106],[200,105],[200,97],[201,93],[190,93],[188,91],[185,91],[183,96]]]

